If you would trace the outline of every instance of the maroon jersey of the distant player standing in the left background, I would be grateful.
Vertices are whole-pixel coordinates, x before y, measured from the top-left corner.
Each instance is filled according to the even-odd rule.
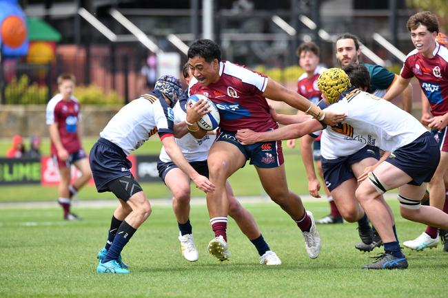
[[[61,143],[68,153],[79,151],[81,142],[78,137],[79,103],[77,98],[70,98],[70,101],[62,99],[61,94],[54,96],[47,105],[46,123],[51,125],[57,123]],[[51,153],[57,154],[57,149],[51,142]]]

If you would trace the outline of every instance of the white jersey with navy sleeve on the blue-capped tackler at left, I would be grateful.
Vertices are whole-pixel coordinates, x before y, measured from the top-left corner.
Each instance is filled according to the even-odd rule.
[[[161,139],[174,136],[173,120],[172,108],[155,90],[122,107],[99,135],[118,145],[128,156],[153,134],[159,133]]]

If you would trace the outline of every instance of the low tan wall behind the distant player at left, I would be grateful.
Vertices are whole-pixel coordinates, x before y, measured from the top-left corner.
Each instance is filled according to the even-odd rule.
[[[83,136],[98,136],[99,132],[121,106],[81,107]],[[48,136],[45,124],[45,105],[3,105],[0,106],[0,138],[21,136]]]

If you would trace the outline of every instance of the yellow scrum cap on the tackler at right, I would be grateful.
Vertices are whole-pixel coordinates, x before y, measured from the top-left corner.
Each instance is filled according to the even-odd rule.
[[[334,103],[338,100],[340,94],[351,85],[349,76],[343,70],[336,67],[325,70],[317,80],[317,87],[325,95],[329,103]]]

